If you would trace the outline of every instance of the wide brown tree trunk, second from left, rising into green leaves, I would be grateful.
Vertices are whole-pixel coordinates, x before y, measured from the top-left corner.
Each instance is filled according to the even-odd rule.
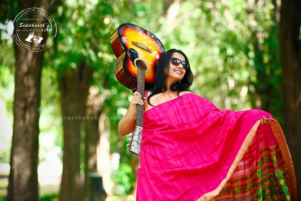
[[[59,78],[63,114],[64,154],[60,190],[61,201],[82,200],[80,180],[81,123],[85,115],[86,99],[92,76],[91,68],[84,65],[76,70],[63,69]]]

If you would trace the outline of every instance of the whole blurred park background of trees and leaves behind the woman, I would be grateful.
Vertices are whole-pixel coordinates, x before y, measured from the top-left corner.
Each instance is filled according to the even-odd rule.
[[[194,74],[191,91],[220,110],[270,112],[283,129],[301,193],[299,0],[3,0],[0,6],[0,200],[136,199],[139,158],[118,134],[133,94],[115,77],[110,47],[122,23],[149,30],[166,50],[181,49]],[[30,7],[48,11],[57,25],[42,52],[13,41],[13,20]]]

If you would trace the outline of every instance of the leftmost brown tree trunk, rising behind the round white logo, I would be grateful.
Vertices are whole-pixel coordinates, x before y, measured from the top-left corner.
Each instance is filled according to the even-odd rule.
[[[22,10],[39,7],[47,10],[45,1],[19,2]],[[21,10],[20,10],[21,11]],[[38,22],[35,22],[38,24]],[[14,33],[16,31],[14,30]],[[24,33],[28,34],[28,33]],[[47,37],[47,33],[39,36]],[[15,42],[15,92],[13,103],[13,138],[7,200],[40,200],[38,183],[40,82],[44,51],[29,52]]]

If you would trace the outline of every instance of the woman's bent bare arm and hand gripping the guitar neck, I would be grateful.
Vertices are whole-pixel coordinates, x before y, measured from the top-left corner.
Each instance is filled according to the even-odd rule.
[[[146,101],[146,97],[143,98]],[[129,106],[128,111],[124,115],[124,118],[118,123],[118,133],[121,136],[131,133],[136,128],[136,115],[137,115],[137,104],[143,105],[142,98],[140,94],[136,91],[134,97],[132,98],[131,104],[133,107]]]

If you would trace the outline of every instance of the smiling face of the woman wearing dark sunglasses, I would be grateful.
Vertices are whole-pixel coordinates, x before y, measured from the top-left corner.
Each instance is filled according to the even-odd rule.
[[[178,53],[178,52],[173,52],[172,57],[171,58],[178,58],[182,61],[185,61],[185,57]],[[172,64],[172,60],[169,60],[169,72],[168,72],[168,76],[167,76],[167,82],[169,82],[170,84],[175,83],[181,79],[183,79],[186,70],[183,68],[182,63],[180,63],[180,65],[175,66]]]

